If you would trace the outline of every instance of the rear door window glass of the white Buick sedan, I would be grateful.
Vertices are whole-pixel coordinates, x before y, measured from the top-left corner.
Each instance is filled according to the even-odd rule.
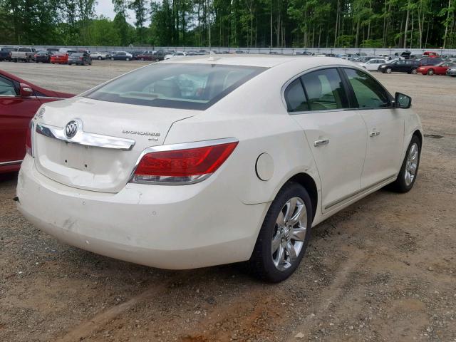
[[[341,76],[335,68],[322,69],[301,76],[309,110],[348,108]]]

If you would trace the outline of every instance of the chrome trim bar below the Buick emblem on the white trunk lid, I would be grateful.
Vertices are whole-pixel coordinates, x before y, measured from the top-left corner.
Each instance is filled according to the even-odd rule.
[[[131,150],[135,145],[135,140],[125,139],[118,137],[111,137],[109,135],[100,135],[95,133],[88,133],[83,131],[82,121],[75,119],[78,123],[78,131],[73,138],[67,138],[65,128],[60,128],[52,125],[44,125],[43,123],[36,124],[36,133],[44,135],[48,138],[63,140],[71,144],[78,144],[84,146],[94,146],[103,148],[113,148],[115,150]]]

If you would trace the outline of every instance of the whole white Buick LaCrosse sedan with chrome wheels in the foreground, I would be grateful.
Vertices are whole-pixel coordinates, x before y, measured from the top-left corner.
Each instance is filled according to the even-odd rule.
[[[423,132],[410,105],[340,58],[155,63],[38,110],[18,208],[109,257],[247,261],[281,281],[312,226],[385,185],[412,189]]]

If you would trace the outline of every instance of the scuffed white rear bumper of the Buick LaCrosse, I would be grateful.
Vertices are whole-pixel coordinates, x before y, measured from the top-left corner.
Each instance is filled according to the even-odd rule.
[[[28,155],[17,195],[19,211],[61,241],[165,269],[249,259],[268,207],[242,204],[217,177],[186,186],[128,184],[117,194],[78,190],[41,175]]]

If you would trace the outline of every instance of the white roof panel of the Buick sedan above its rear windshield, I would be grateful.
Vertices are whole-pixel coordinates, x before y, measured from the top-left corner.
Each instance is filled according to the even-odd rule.
[[[299,66],[308,66],[314,68],[316,66],[325,65],[347,65],[353,66],[351,61],[346,61],[341,58],[333,57],[316,57],[316,56],[276,56],[276,55],[204,55],[204,56],[187,56],[185,59],[178,61],[167,60],[160,63],[202,63],[202,64],[218,64],[226,66],[257,66],[262,68],[273,68],[282,63],[296,64]]]

